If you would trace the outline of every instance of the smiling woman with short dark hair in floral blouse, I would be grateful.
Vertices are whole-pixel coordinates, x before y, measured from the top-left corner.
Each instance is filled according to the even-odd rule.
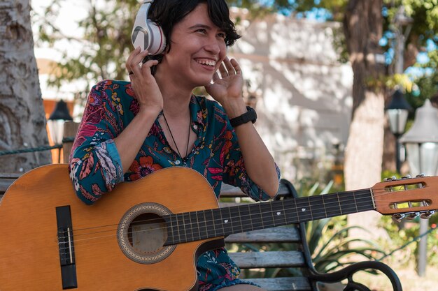
[[[78,197],[92,204],[120,181],[174,165],[203,174],[217,196],[224,181],[255,200],[274,197],[278,168],[253,123],[229,122],[247,108],[241,68],[227,58],[239,35],[225,1],[155,1],[149,18],[162,27],[166,50],[142,64],[148,51],[137,48],[126,63],[131,82],[92,88],[70,163]],[[217,102],[194,96],[199,86]],[[199,290],[261,290],[238,278],[224,248],[201,255],[197,272]]]

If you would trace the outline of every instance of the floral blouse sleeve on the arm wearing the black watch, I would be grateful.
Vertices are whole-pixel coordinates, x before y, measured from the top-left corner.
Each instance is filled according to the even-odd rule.
[[[250,196],[255,201],[271,199],[271,197],[248,176],[245,169],[245,163],[243,163],[243,156],[237,140],[237,135],[234,128],[229,124],[229,120],[226,120],[227,126],[224,135],[225,147],[222,147],[221,153],[221,155],[224,156],[223,182],[241,188],[243,193]],[[260,165],[260,167],[263,167],[263,165]],[[275,167],[278,183],[280,183],[280,169],[277,165],[275,165]]]

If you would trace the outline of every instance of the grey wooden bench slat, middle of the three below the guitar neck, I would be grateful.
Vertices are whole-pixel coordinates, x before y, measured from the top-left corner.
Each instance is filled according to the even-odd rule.
[[[304,256],[299,251],[269,251],[228,253],[229,257],[241,268],[281,268],[301,267],[304,265]]]

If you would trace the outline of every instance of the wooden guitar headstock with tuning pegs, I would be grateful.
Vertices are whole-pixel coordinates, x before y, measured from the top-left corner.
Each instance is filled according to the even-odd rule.
[[[438,210],[438,177],[418,175],[385,179],[372,188],[376,211],[383,215],[402,218],[429,218]]]

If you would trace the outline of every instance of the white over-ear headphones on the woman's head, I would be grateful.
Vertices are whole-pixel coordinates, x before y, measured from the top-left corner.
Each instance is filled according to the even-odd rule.
[[[140,47],[141,51],[148,50],[149,54],[161,54],[166,48],[166,38],[162,28],[148,19],[148,10],[154,0],[144,0],[135,18],[132,29],[132,44]]]

